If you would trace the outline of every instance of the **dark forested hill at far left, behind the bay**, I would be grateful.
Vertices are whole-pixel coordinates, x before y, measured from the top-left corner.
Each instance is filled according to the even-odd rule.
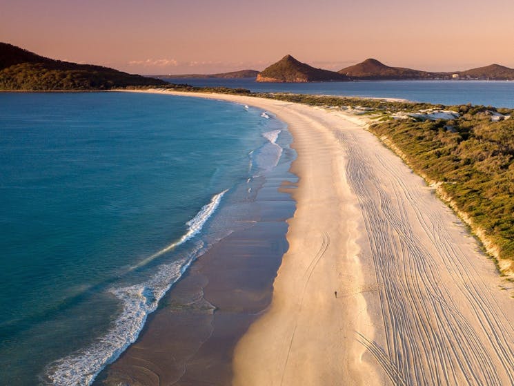
[[[42,57],[0,42],[0,90],[109,90],[127,86],[164,86],[166,81],[113,68]]]

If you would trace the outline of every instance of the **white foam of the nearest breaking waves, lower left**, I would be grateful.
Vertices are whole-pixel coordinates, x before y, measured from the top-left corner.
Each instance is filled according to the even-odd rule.
[[[212,197],[210,203],[203,206],[197,215],[186,223],[188,231],[177,242],[154,253],[138,266],[141,267],[199,233],[208,218],[217,209],[221,197],[225,193],[226,191],[223,191]],[[110,289],[110,293],[121,300],[121,315],[113,322],[108,333],[93,342],[90,347],[48,365],[46,376],[51,384],[56,386],[90,385],[103,367],[116,360],[129,345],[135,342],[148,314],[157,309],[159,300],[184,274],[203,247],[203,242],[197,242],[194,249],[187,255],[181,256],[170,264],[163,264],[155,276],[147,282]]]

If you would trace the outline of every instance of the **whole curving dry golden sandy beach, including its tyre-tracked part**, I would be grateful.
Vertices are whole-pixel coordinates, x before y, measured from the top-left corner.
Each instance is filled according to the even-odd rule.
[[[228,358],[230,382],[206,384],[514,384],[512,284],[362,117],[170,94],[269,110],[297,151],[297,209],[270,305]]]

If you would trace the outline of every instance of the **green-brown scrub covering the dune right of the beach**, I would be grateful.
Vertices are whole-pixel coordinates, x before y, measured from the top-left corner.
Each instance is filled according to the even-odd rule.
[[[391,119],[369,130],[404,157],[415,172],[471,226],[498,261],[514,273],[514,120],[491,122],[484,106],[452,106],[458,119]],[[512,110],[502,113],[513,114]]]

